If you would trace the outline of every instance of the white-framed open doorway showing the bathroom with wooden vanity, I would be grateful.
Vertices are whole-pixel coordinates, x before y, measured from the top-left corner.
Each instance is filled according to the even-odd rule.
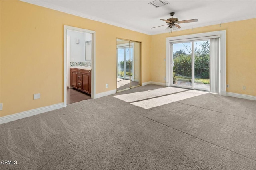
[[[95,31],[64,25],[64,106],[95,96]]]

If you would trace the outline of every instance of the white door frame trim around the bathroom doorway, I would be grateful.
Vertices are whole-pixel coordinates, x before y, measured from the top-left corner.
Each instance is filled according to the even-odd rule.
[[[91,33],[92,34],[92,71],[91,71],[91,98],[95,98],[96,92],[96,33],[95,31],[91,31],[88,29],[82,29],[77,27],[72,27],[68,25],[64,25],[64,107],[67,106],[67,31],[79,31],[83,33]]]

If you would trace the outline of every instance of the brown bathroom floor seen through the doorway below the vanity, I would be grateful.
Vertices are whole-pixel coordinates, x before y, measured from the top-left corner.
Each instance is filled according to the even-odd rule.
[[[67,89],[67,104],[72,104],[76,102],[80,102],[82,100],[90,99],[91,96],[79,90],[70,88]]]

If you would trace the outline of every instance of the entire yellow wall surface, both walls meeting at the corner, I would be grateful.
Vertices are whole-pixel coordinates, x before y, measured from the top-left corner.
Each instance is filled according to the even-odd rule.
[[[256,96],[256,19],[150,36],[0,0],[0,117],[64,102],[64,25],[96,31],[96,94],[116,89],[116,38],[141,42],[142,83],[164,83],[166,37],[226,30],[227,91]],[[33,100],[35,93],[41,99]]]

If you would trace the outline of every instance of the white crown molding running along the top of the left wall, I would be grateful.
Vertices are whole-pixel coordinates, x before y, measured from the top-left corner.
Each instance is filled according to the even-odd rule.
[[[74,15],[74,16],[79,16],[79,17],[86,18],[86,19],[89,19],[89,20],[94,20],[94,21],[106,23],[106,24],[109,24],[109,25],[114,25],[116,27],[129,29],[131,31],[136,31],[136,32],[139,32],[139,33],[144,33],[144,34],[150,35],[150,33],[147,32],[147,31],[143,31],[143,30],[136,29],[136,28],[133,28],[133,27],[128,27],[126,25],[122,25],[122,24],[119,24],[119,23],[116,23],[116,22],[104,20],[102,18],[98,18],[98,17],[95,17],[95,16],[90,16],[90,15],[87,15],[87,14],[83,14],[81,12],[76,12],[74,10],[70,10],[70,9],[67,9],[67,8],[60,7],[60,6],[52,5],[52,4],[49,4],[49,3],[44,2],[42,0],[20,0],[20,1],[27,2],[27,3],[33,4],[33,5],[42,6],[42,7],[45,7],[45,8],[52,9],[52,10],[64,12],[64,13],[71,14],[71,15]]]

